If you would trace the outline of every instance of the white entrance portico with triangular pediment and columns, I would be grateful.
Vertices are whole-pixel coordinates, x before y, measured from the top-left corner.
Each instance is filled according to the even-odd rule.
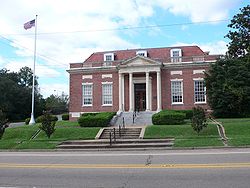
[[[119,112],[125,111],[125,87],[124,75],[128,75],[129,81],[129,111],[152,111],[152,77],[156,73],[157,82],[157,111],[162,109],[161,103],[161,67],[162,63],[144,56],[136,56],[122,62],[119,70]],[[141,77],[134,77],[141,74]],[[145,75],[145,76],[144,76]],[[136,96],[135,96],[136,95]],[[138,101],[138,100],[141,101]],[[138,108],[138,109],[136,109]]]

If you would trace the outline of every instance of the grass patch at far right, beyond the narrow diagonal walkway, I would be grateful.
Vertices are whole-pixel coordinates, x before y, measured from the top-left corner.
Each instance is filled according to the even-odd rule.
[[[250,118],[218,119],[222,122],[229,146],[250,146]]]

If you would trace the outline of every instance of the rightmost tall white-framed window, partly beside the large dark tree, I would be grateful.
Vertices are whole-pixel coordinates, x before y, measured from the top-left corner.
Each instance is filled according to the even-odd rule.
[[[206,103],[206,87],[204,80],[194,81],[194,101],[195,103]]]

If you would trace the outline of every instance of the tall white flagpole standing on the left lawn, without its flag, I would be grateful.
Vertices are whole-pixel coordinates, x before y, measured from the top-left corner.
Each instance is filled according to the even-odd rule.
[[[31,117],[29,125],[34,125],[35,118],[34,118],[34,104],[35,104],[35,69],[36,69],[36,37],[37,37],[37,15],[35,19],[35,42],[34,42],[34,63],[33,63],[33,82],[32,82],[32,107],[31,107]]]

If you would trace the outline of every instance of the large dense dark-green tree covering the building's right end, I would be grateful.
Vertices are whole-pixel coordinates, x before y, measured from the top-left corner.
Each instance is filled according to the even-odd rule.
[[[250,115],[250,61],[221,59],[206,74],[208,103],[215,117]]]

